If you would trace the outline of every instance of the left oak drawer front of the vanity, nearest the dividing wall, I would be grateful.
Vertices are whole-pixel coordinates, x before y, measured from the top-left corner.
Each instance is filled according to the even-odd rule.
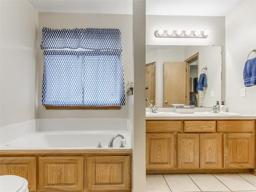
[[[181,132],[181,121],[146,121],[146,132]]]

